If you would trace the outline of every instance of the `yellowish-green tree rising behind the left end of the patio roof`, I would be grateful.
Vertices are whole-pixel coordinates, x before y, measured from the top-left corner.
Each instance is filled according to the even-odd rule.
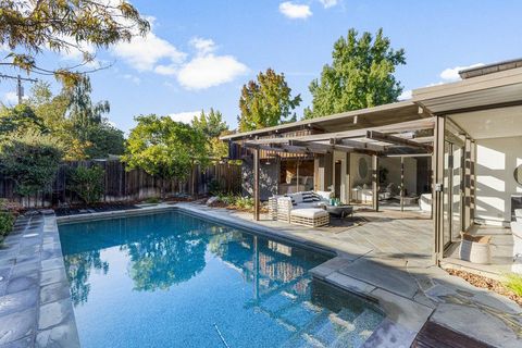
[[[257,80],[243,86],[239,130],[248,132],[296,121],[293,111],[300,102],[300,95],[291,97],[285,75],[268,69],[265,73],[259,73]]]

